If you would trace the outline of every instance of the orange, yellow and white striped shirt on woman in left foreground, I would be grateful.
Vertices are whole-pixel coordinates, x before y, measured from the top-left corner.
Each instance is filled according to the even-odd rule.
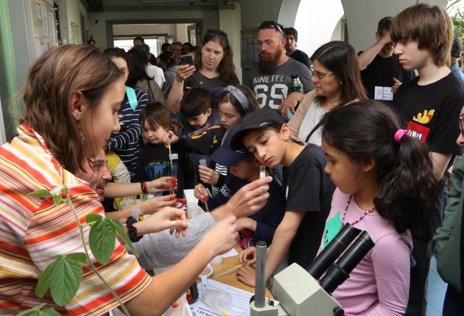
[[[28,196],[36,190],[68,186],[69,195],[81,223],[90,213],[104,216],[97,194],[86,183],[59,165],[43,138],[23,124],[19,135],[0,146],[0,315],[46,303],[58,313],[100,315],[118,306],[103,282],[83,268],[82,283],[66,306],[57,306],[50,292],[35,295],[42,271],[56,255],[84,252],[75,217],[65,203],[55,205],[51,197]],[[84,228],[88,247],[90,228]],[[99,273],[127,301],[146,289],[150,276],[116,241],[109,262],[92,262]]]

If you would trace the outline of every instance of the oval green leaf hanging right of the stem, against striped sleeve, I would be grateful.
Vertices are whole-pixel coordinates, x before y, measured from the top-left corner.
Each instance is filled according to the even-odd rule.
[[[88,239],[95,259],[102,265],[106,264],[113,254],[116,243],[116,229],[111,224],[111,220],[102,218],[96,221],[90,228]]]

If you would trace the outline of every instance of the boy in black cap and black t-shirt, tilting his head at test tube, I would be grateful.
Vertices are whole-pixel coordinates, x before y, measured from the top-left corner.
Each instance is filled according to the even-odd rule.
[[[316,256],[330,211],[335,186],[324,171],[327,158],[324,151],[313,144],[302,146],[290,139],[290,129],[280,115],[268,109],[250,113],[232,138],[231,148],[245,146],[266,167],[283,169],[282,189],[286,198],[285,215],[275,230],[268,251],[266,280],[284,259],[306,268]],[[254,286],[255,248],[240,254],[246,262],[238,271],[238,279]],[[247,262],[247,259],[253,260]]]

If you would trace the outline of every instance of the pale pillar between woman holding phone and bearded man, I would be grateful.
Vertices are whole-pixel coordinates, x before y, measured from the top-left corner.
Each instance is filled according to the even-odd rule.
[[[219,10],[219,29],[227,33],[227,39],[233,52],[233,61],[237,77],[242,78],[240,67],[240,28],[242,24],[241,5],[235,2],[235,10]]]

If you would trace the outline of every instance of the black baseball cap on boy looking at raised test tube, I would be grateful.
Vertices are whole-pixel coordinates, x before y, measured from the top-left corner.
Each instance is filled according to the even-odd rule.
[[[284,119],[275,110],[263,108],[258,111],[248,113],[240,130],[232,137],[230,147],[232,150],[244,147],[243,138],[249,130],[263,128],[271,125],[272,123],[277,123],[279,125],[285,124]]]

